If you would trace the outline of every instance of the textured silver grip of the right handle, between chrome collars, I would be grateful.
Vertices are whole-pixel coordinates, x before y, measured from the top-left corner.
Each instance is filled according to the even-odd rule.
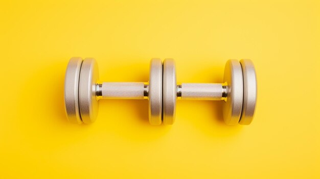
[[[223,100],[223,87],[219,83],[182,83],[181,99]]]

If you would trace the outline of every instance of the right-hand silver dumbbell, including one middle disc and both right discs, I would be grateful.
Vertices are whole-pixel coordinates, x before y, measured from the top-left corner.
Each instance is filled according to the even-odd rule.
[[[163,64],[163,122],[173,124],[176,100],[221,100],[222,116],[226,124],[248,125],[252,122],[257,100],[256,71],[252,61],[228,60],[223,83],[176,82],[173,59]]]

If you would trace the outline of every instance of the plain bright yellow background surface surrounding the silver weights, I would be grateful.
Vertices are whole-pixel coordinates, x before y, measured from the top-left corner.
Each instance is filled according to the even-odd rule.
[[[0,178],[319,178],[319,1],[2,1]],[[147,100],[104,100],[66,120],[64,72],[97,59],[102,81],[148,81],[174,58],[178,82],[222,82],[252,59],[258,106],[228,126],[220,101],[178,101],[151,126]]]

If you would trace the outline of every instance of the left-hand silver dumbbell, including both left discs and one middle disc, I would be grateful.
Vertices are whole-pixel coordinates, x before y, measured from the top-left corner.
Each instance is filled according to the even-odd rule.
[[[94,58],[70,59],[64,81],[65,111],[69,121],[93,123],[100,99],[148,99],[149,122],[162,123],[163,63],[151,59],[149,83],[99,82],[98,64]]]

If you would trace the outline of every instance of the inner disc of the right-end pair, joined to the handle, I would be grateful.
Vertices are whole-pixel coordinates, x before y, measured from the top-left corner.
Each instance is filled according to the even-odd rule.
[[[227,83],[226,102],[222,106],[226,124],[234,125],[240,120],[243,102],[243,77],[238,60],[228,60],[224,68],[224,82]]]

